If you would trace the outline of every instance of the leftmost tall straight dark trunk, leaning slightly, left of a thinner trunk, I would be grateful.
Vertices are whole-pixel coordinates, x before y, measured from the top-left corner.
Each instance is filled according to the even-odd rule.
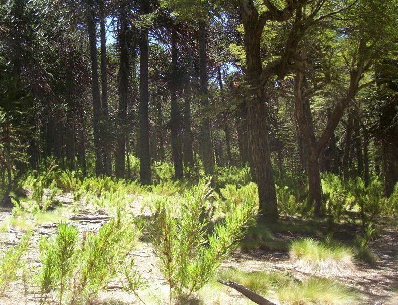
[[[94,18],[94,9],[87,3],[87,25],[90,44],[91,59],[91,92],[93,97],[93,132],[94,132],[94,153],[95,153],[95,171],[96,176],[104,173],[102,156],[101,156],[101,98],[100,86],[98,80],[98,62],[97,62],[97,39],[96,39],[96,22]]]

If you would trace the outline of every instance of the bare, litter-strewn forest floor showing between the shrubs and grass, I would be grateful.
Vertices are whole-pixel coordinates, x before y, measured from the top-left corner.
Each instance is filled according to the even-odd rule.
[[[73,203],[71,197],[62,196],[60,198],[64,205],[68,206]],[[141,199],[136,198],[131,203],[131,208],[135,215],[141,214]],[[11,208],[0,208],[0,221],[5,220],[11,215]],[[107,221],[107,217],[104,211],[95,211],[85,207],[84,210],[79,211],[79,214],[70,214],[67,216],[73,224],[81,231],[90,230],[97,231],[100,226]],[[106,211],[105,211],[106,214]],[[144,216],[148,216],[150,211],[148,209],[143,210]],[[313,222],[289,219],[293,221],[295,225],[289,226],[276,226],[270,228],[270,231],[274,235],[275,241],[288,242],[292,239],[300,237],[320,237],[317,236],[320,233],[314,232],[313,229],[307,230],[308,226],[314,226]],[[283,223],[288,223],[285,219]],[[321,231],[327,228],[326,223],[316,223],[316,227]],[[25,275],[26,280],[18,280],[11,284],[9,289],[6,291],[6,296],[0,298],[0,305],[19,305],[19,304],[38,304],[39,301],[35,300],[34,291],[32,291],[32,274],[29,274],[33,267],[39,266],[38,261],[38,240],[42,236],[50,236],[54,234],[56,229],[55,223],[49,223],[40,225],[34,228],[33,241],[31,244],[30,251],[28,253],[29,267],[28,274]],[[330,229],[330,227],[329,227]],[[359,225],[353,224],[333,224],[332,233],[336,236],[338,241],[344,242],[347,239],[352,238],[360,231]],[[9,228],[7,232],[1,233],[0,238],[0,252],[15,245],[19,238],[22,236],[22,232],[18,229]],[[370,245],[370,249],[377,255],[377,262],[375,264],[368,264],[363,262],[355,263],[355,270],[347,274],[314,274],[309,273],[300,266],[292,263],[289,260],[289,254],[287,251],[271,251],[271,250],[248,250],[243,252],[237,250],[233,257],[225,261],[221,269],[223,268],[235,268],[244,272],[252,271],[279,271],[289,273],[298,280],[303,280],[308,276],[317,277],[330,277],[335,279],[337,282],[347,285],[352,289],[359,291],[362,295],[362,304],[376,304],[382,301],[382,304],[393,305],[398,304],[398,295],[396,291],[398,289],[398,229],[393,227],[391,224],[386,223],[383,225],[380,236],[377,240],[373,241]],[[135,257],[136,265],[142,277],[150,283],[150,291],[144,291],[143,299],[156,299],[159,295],[164,294],[166,291],[165,281],[161,274],[156,268],[156,258],[153,254],[152,248],[149,243],[141,241],[138,248],[132,253]],[[21,277],[21,274],[19,275]],[[224,279],[226,280],[226,279]],[[233,280],[233,279],[232,279]],[[219,287],[217,286],[219,285]],[[216,291],[211,291],[213,288],[218,287]],[[243,298],[236,291],[231,288],[227,288],[215,282],[212,283],[210,291],[207,292],[207,297],[202,298],[202,301],[191,302],[192,304],[248,304],[248,300]],[[222,292],[222,300],[216,300],[216,295]],[[121,289],[121,284],[117,280],[109,285],[109,289],[102,291],[99,295],[98,304],[102,305],[116,305],[116,304],[138,304],[139,301],[133,294],[124,292]]]

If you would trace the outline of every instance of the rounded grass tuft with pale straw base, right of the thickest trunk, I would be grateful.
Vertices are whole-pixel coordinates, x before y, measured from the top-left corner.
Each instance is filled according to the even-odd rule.
[[[310,271],[347,273],[354,269],[354,252],[343,245],[326,245],[313,238],[294,240],[290,245],[290,259]]]

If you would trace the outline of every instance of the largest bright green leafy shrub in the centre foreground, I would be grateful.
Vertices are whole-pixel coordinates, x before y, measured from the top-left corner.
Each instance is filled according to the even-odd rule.
[[[234,205],[232,213],[209,232],[211,207],[207,198],[211,195],[209,181],[202,180],[184,194],[183,200],[158,197],[154,203],[156,218],[148,229],[161,272],[170,286],[170,301],[203,287],[254,222],[255,206],[245,201]]]

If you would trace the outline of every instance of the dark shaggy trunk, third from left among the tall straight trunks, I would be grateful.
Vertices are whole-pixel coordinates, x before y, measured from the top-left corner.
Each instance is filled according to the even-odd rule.
[[[127,8],[120,7],[120,32],[119,32],[119,105],[118,105],[118,133],[115,151],[115,176],[124,178],[126,160],[126,118],[129,85],[129,42]]]

